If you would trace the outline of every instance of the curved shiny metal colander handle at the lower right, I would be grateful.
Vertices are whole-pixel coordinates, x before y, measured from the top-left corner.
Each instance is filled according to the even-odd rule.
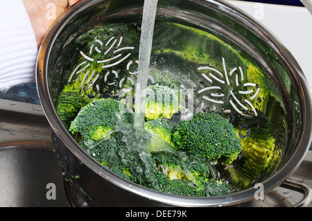
[[[309,186],[306,186],[305,184],[302,184],[300,182],[296,182],[292,179],[286,179],[280,186],[304,194],[302,200],[295,204],[293,207],[308,207],[311,204],[312,190]]]

